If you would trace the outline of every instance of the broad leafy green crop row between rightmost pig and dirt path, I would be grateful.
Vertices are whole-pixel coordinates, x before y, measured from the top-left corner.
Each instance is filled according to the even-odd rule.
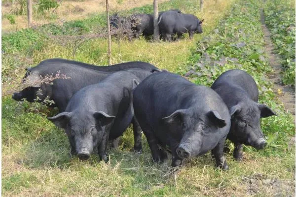
[[[251,74],[259,87],[259,102],[278,114],[261,120],[262,131],[270,138],[269,149],[265,151],[278,154],[287,151],[289,136],[295,135],[295,125],[283,106],[276,104],[272,84],[267,80],[266,74],[271,67],[264,57],[259,8],[257,0],[240,1],[213,33],[197,42],[197,49],[187,62],[188,68],[179,70],[179,73],[206,86],[211,86],[222,72],[229,69],[239,68]]]

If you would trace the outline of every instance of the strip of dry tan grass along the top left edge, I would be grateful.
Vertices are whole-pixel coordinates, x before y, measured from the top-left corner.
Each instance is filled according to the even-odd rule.
[[[158,0],[159,3],[167,0]],[[131,3],[130,3],[131,2]],[[123,0],[122,3],[118,3],[118,0],[109,0],[110,10],[124,10],[133,7],[139,7],[152,3],[151,0]],[[8,19],[5,16],[11,11],[11,4],[2,4],[2,32],[14,32],[15,26],[10,25]],[[106,11],[106,0],[85,0],[85,1],[63,1],[61,5],[56,9],[58,18],[54,20],[42,19],[33,16],[34,26],[39,26],[47,23],[57,23],[60,20],[72,21],[84,19],[92,14]],[[16,16],[15,21],[18,29],[27,28],[28,21],[27,16]]]

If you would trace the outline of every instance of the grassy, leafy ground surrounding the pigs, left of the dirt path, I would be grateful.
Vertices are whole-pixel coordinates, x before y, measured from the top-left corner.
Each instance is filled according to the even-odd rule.
[[[227,69],[240,67],[248,71],[259,85],[260,102],[278,114],[261,121],[268,138],[266,149],[244,147],[241,163],[235,162],[231,153],[226,154],[228,171],[216,169],[215,161],[206,154],[186,161],[177,173],[168,175],[170,160],[153,164],[145,136],[143,153],[132,152],[133,136],[128,129],[120,147],[108,151],[108,164],[98,162],[97,155],[79,162],[76,157],[69,157],[70,145],[64,131],[46,120],[55,111],[38,103],[16,102],[8,95],[2,97],[2,196],[293,196],[295,125],[270,89],[267,74],[272,69],[264,55],[259,22],[262,6],[256,0],[206,0],[200,13],[195,0],[161,3],[160,10],[179,8],[205,19],[204,33],[195,35],[193,40],[186,35],[172,43],[152,43],[143,38],[123,40],[120,51],[113,40],[112,63],[146,61],[204,85],[211,85]],[[149,5],[127,12],[151,10]],[[81,20],[83,33],[95,30],[90,21],[104,24],[104,14]],[[5,34],[2,95],[17,88],[25,67],[47,58],[106,65],[105,39],[86,41],[73,56],[71,45],[62,46],[42,34],[42,28],[52,32],[68,27],[71,30],[73,24],[76,27],[78,23]],[[231,144],[230,149],[233,150]]]

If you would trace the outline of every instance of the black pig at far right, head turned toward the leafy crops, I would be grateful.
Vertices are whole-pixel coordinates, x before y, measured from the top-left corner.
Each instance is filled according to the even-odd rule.
[[[258,104],[256,82],[247,72],[239,69],[222,73],[212,87],[227,105],[231,129],[227,138],[234,145],[233,157],[242,160],[242,144],[263,149],[267,142],[260,129],[260,118],[276,115],[264,104]]]

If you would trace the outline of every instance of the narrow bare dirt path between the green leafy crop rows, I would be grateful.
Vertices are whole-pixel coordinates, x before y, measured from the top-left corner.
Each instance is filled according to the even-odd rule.
[[[273,91],[277,94],[280,101],[284,103],[285,109],[292,113],[295,122],[295,92],[294,88],[285,86],[281,82],[281,70],[280,56],[274,53],[274,45],[270,38],[270,32],[265,25],[264,13],[261,10],[261,27],[264,33],[265,52],[269,59],[270,66],[273,67],[274,72],[269,74],[269,79],[274,83]]]

